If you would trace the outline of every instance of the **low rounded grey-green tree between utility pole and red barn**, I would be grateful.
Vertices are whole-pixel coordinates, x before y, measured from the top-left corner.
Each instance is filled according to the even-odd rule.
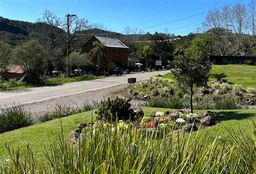
[[[90,71],[93,69],[91,59],[91,56],[87,53],[80,54],[78,52],[72,52],[70,54],[70,65],[76,67],[77,69],[82,69],[84,72]]]

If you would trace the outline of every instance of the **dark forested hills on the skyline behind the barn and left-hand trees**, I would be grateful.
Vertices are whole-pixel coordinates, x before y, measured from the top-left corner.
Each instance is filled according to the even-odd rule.
[[[58,28],[60,32],[65,33],[62,29]],[[102,34],[103,36],[118,38],[120,40],[150,40],[151,34],[120,34],[117,32],[111,32],[107,30],[100,30],[98,28],[92,28],[89,30],[79,31],[77,39],[82,43],[83,41],[91,37],[90,34]],[[17,45],[19,42],[28,38],[37,39],[39,41],[48,40],[48,33],[45,30],[45,24],[43,23],[30,23],[28,21],[11,20],[0,17],[0,39],[4,42],[8,42],[11,45]]]

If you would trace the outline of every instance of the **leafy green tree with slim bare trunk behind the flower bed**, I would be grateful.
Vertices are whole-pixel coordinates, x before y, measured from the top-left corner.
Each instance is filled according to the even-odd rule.
[[[207,36],[197,37],[186,50],[185,55],[174,57],[173,75],[180,86],[190,90],[190,109],[193,112],[194,86],[207,85],[210,77],[211,63],[208,58]]]

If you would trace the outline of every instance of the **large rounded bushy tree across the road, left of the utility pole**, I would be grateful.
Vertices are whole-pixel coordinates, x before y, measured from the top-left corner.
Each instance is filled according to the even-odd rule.
[[[31,84],[42,83],[45,60],[48,54],[36,40],[29,40],[14,50],[14,63],[26,72],[25,81]]]

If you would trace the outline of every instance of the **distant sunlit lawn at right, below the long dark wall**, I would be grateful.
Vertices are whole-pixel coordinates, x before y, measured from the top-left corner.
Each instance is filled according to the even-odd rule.
[[[248,86],[256,89],[256,66],[245,64],[213,65],[211,73],[226,73],[228,82],[242,85],[245,89]],[[163,77],[175,79],[172,74]],[[210,81],[212,79],[210,78]]]

